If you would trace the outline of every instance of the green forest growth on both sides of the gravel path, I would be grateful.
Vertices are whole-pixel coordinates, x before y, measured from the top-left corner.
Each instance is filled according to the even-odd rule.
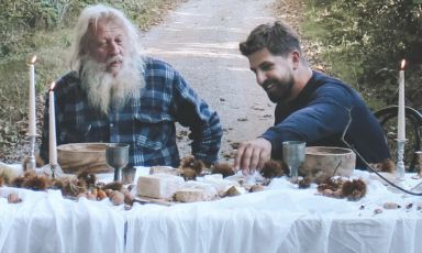
[[[184,1],[101,2],[124,10],[146,30]],[[64,56],[75,19],[84,7],[99,1],[0,2],[0,161],[13,162],[4,154],[27,139],[29,58],[36,52],[40,134],[44,95],[52,78],[68,69]],[[351,84],[374,111],[397,105],[402,59],[407,61],[407,106],[422,110],[422,0],[277,0],[279,6],[286,2],[298,6],[297,29],[311,43],[308,52],[320,59],[319,67]]]

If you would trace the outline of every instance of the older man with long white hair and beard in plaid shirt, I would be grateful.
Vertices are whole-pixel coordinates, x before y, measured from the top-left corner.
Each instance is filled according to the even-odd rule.
[[[175,122],[189,127],[196,158],[218,160],[215,111],[170,65],[140,55],[137,29],[110,7],[86,8],[78,20],[71,72],[54,88],[57,144],[130,144],[129,166],[178,166]],[[48,161],[48,101],[41,156]]]

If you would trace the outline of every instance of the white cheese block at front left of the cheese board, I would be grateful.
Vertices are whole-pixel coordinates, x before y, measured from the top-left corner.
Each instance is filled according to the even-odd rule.
[[[140,176],[137,195],[149,198],[171,199],[173,195],[185,185],[185,179],[169,174]]]

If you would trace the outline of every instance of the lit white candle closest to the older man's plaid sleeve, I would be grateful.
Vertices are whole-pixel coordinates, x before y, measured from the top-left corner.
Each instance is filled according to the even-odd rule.
[[[56,147],[56,116],[54,109],[54,91],[53,88],[56,84],[53,82],[48,91],[48,131],[49,131],[49,164],[57,165],[57,147]]]

